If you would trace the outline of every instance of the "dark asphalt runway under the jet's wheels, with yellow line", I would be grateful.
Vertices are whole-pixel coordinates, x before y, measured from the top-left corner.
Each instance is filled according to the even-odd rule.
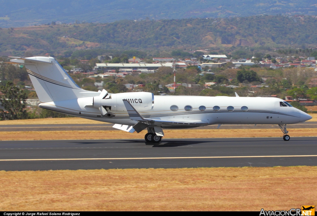
[[[317,166],[317,137],[0,141],[0,170]]]

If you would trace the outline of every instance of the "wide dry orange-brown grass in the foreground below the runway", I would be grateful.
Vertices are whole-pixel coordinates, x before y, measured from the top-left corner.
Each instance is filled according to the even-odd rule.
[[[0,211],[289,210],[317,197],[317,167],[305,166],[0,171],[0,181]]]

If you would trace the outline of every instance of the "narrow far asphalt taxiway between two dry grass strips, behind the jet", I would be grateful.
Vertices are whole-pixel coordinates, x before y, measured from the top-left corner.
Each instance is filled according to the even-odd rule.
[[[24,125],[0,125],[0,131],[53,131],[53,130],[119,130],[112,127],[113,124],[24,124]],[[192,129],[217,129],[218,125],[208,125]],[[288,124],[292,128],[317,128],[317,122],[304,122]],[[278,125],[256,125],[254,124],[223,124],[220,129],[277,129]],[[177,129],[176,129],[177,130]],[[188,130],[188,129],[187,129]],[[190,130],[190,129],[189,129]]]

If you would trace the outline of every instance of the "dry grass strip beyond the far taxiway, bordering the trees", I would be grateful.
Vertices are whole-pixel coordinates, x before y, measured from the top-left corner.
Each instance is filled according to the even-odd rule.
[[[317,121],[317,113],[309,114],[313,118],[309,121]],[[12,124],[108,124],[106,122],[99,122],[85,118],[38,118],[25,120],[7,120],[0,121],[0,125]]]

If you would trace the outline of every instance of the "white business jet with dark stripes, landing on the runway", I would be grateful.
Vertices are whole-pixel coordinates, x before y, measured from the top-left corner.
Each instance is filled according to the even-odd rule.
[[[279,98],[158,96],[150,92],[111,94],[81,89],[53,57],[12,57],[24,64],[41,101],[39,107],[71,116],[114,123],[130,133],[147,129],[145,140],[159,143],[163,129],[210,124],[277,124],[288,141],[287,124],[312,117]],[[212,131],[210,131],[212,133]]]

